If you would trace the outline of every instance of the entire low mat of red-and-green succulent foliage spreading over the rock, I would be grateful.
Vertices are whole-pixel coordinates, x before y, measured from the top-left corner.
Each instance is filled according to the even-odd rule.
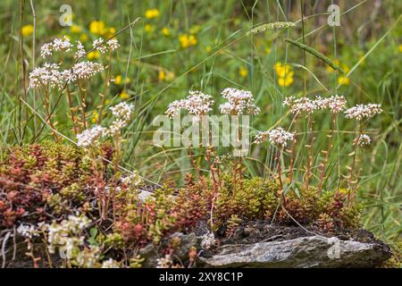
[[[50,142],[3,147],[2,152],[0,230],[10,231],[21,223],[63,221],[80,213],[96,222],[88,241],[109,249],[113,257],[123,257],[123,250],[137,255],[135,249],[158,245],[176,231],[186,233],[202,225],[216,232],[218,240],[230,238],[247,221],[300,223],[328,234],[359,226],[360,209],[348,206],[343,191],[319,194],[313,186],[300,186],[289,188],[283,199],[275,178],[243,178],[233,187],[232,177],[222,173],[216,188],[213,180],[188,174],[183,187],[166,183],[144,199],[140,184],[123,182],[107,164],[114,156],[110,145],[90,151],[105,161],[92,160],[80,148]],[[105,217],[99,212],[99,189],[114,194]],[[174,241],[163,251],[174,253]],[[193,249],[189,257],[196,256]]]

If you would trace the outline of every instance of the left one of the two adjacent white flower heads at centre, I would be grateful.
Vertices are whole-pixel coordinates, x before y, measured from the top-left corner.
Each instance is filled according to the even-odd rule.
[[[210,95],[205,95],[201,91],[191,90],[189,91],[189,96],[173,101],[166,110],[166,115],[170,118],[180,113],[181,109],[184,109],[188,114],[200,115],[207,114],[212,110],[214,105],[214,99]]]

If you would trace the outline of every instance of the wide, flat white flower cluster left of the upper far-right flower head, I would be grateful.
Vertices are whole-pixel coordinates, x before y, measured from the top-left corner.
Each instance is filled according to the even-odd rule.
[[[283,101],[283,106],[289,106],[292,114],[299,114],[305,112],[306,114],[313,114],[316,110],[330,109],[332,114],[339,114],[345,109],[347,100],[343,96],[332,97],[315,97],[309,99],[308,97],[287,97]]]

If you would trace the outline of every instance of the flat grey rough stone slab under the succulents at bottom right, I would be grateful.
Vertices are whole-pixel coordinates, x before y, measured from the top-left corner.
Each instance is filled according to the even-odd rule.
[[[322,236],[294,240],[227,244],[212,257],[200,257],[205,267],[375,267],[390,257],[381,243],[362,243]]]

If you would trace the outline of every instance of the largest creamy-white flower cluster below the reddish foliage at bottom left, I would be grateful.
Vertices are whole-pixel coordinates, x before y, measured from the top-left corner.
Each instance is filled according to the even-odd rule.
[[[62,223],[53,222],[47,225],[47,242],[50,253],[55,252],[55,248],[61,249],[67,256],[72,256],[80,251],[80,246],[84,244],[84,236],[80,233],[84,231],[91,221],[85,215],[69,215],[68,220]]]

